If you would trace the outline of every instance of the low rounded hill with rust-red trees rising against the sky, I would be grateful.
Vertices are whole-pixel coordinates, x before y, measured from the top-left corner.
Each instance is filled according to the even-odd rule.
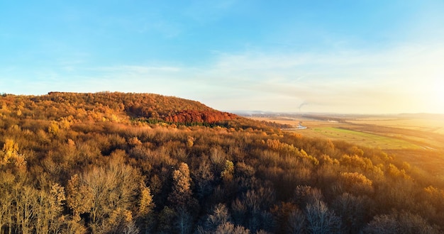
[[[159,94],[50,92],[42,96],[9,94],[4,95],[1,101],[5,104],[21,102],[21,111],[24,112],[21,115],[41,119],[72,115],[77,118],[116,120],[118,116],[128,116],[170,123],[216,123],[239,118],[233,113],[216,111],[198,101]],[[40,112],[39,109],[43,111]],[[40,113],[40,116],[35,116],[36,112]]]

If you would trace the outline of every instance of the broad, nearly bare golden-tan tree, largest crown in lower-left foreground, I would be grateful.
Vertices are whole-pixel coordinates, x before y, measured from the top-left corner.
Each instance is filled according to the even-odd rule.
[[[74,216],[89,214],[89,227],[93,232],[118,228],[114,224],[121,225],[120,221],[110,219],[113,213],[133,215],[131,209],[138,196],[141,177],[133,167],[115,157],[121,156],[113,155],[106,167],[93,167],[81,176],[74,175],[68,182],[67,204]],[[132,218],[121,221],[132,222]]]

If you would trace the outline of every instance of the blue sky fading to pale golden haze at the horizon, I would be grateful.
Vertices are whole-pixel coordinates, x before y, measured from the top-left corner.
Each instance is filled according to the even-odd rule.
[[[0,93],[444,113],[444,1],[1,1]]]

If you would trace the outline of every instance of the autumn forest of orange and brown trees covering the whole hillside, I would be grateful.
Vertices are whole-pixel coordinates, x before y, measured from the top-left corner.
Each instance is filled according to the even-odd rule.
[[[158,94],[3,94],[0,233],[443,233],[442,179],[285,127]]]

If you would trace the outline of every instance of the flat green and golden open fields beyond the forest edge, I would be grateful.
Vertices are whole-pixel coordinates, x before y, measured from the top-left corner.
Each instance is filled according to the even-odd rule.
[[[289,124],[286,131],[311,138],[344,140],[362,147],[379,148],[400,160],[444,179],[444,116],[404,114],[254,116],[258,121]],[[297,129],[301,123],[306,129]]]

